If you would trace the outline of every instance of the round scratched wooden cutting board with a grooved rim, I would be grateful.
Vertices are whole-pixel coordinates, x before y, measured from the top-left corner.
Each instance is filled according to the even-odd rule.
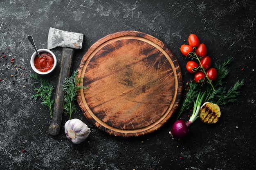
[[[176,111],[182,74],[174,54],[155,37],[122,31],[84,54],[77,100],[84,116],[110,135],[139,136],[159,129]]]

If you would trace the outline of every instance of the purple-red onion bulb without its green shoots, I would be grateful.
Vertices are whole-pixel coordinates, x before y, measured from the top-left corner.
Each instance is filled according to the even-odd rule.
[[[191,122],[184,120],[177,120],[174,122],[171,131],[169,132],[173,137],[186,137],[189,134],[189,125]]]

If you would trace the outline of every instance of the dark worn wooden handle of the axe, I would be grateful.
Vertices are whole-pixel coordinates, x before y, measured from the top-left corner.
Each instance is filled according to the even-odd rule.
[[[58,77],[58,87],[55,95],[53,118],[52,123],[49,126],[50,135],[58,135],[60,132],[64,107],[63,82],[66,77],[70,76],[73,54],[73,48],[64,47],[62,50],[61,70]]]

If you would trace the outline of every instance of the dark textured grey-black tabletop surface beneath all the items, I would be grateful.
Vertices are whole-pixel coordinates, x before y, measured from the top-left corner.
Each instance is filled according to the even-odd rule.
[[[255,8],[254,0],[0,0],[0,169],[253,169]],[[64,133],[68,117],[63,117],[60,135],[51,136],[48,110],[30,99],[34,91],[29,60],[34,50],[27,35],[33,35],[38,48],[47,48],[49,27],[85,34],[85,46],[76,50],[73,70],[88,48],[110,33],[135,30],[150,34],[177,57],[184,86],[192,77],[179,49],[195,33],[214,63],[234,57],[227,86],[242,78],[245,86],[238,104],[220,107],[217,124],[197,120],[189,136],[180,141],[168,134],[175,116],[154,133],[124,139],[102,133],[79,111],[72,118],[83,120],[92,132],[85,142],[74,145]],[[52,51],[60,62],[61,48]],[[46,76],[55,87],[59,69],[58,65],[54,74]]]

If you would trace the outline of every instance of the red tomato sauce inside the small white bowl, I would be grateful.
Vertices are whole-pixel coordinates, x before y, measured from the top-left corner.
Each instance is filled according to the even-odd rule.
[[[52,69],[54,65],[54,58],[52,54],[48,52],[40,52],[40,57],[36,56],[34,59],[34,65],[40,72],[47,72]]]

